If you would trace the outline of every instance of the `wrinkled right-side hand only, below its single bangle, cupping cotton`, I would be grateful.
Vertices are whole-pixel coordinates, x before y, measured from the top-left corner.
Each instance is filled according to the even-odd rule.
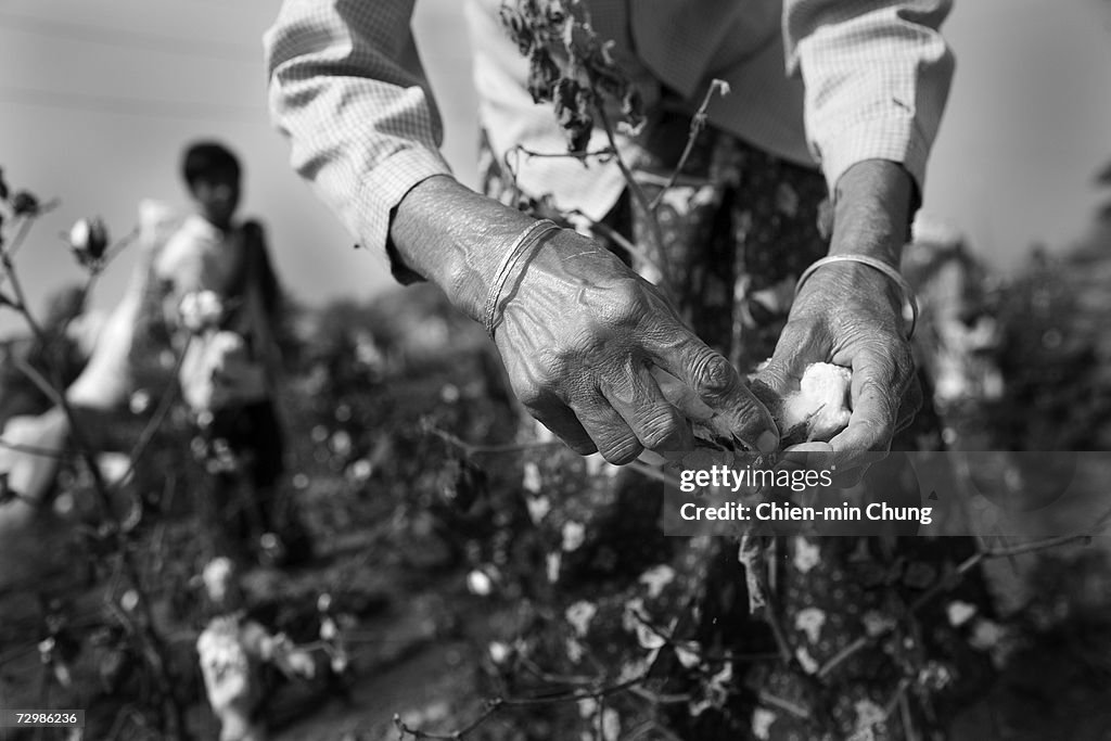
[[[894,433],[921,405],[905,339],[901,297],[890,279],[864,264],[831,263],[805,282],[771,362],[758,381],[779,397],[798,389],[807,366],[852,369],[849,427],[830,440],[838,469],[862,468],[887,453]]]

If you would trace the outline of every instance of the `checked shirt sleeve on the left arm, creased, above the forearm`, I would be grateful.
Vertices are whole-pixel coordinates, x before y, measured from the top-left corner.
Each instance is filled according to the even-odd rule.
[[[390,212],[450,174],[410,32],[413,0],[286,0],[263,39],[270,110],[293,168],[362,244],[386,253]],[[417,277],[393,263],[402,281]]]

